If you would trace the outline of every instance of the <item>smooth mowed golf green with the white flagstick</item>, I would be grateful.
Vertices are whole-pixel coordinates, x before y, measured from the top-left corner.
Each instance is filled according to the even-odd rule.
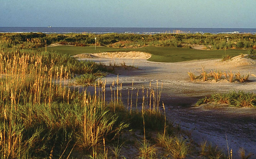
[[[148,61],[154,62],[181,62],[189,60],[199,60],[207,58],[222,58],[225,55],[231,57],[246,54],[248,50],[228,49],[226,50],[196,50],[189,48],[174,47],[142,47],[136,49],[109,48],[109,47],[75,47],[75,46],[55,46],[47,48],[48,51],[68,54],[70,56],[82,53],[98,53],[113,51],[143,51],[152,54]]]

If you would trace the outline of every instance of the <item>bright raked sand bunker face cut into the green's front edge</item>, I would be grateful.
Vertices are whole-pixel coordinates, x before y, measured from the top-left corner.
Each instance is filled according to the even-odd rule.
[[[127,59],[149,59],[151,54],[139,51],[129,52],[101,52],[94,54],[78,54],[78,58],[127,58]]]

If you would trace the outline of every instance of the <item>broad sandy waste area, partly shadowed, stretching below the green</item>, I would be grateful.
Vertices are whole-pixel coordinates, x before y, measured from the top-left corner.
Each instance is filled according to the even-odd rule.
[[[82,60],[85,60],[83,58]],[[125,90],[131,90],[131,83],[134,81],[134,88],[141,89],[149,87],[149,82],[156,86],[156,81],[163,82],[162,100],[168,107],[167,117],[181,128],[188,130],[191,137],[197,143],[207,140],[219,147],[227,149],[225,136],[227,134],[228,144],[233,148],[234,156],[240,147],[244,147],[247,152],[256,154],[256,109],[244,108],[221,108],[204,109],[192,108],[200,97],[212,93],[223,93],[232,90],[244,90],[246,92],[256,92],[256,78],[250,76],[247,83],[229,82],[191,82],[187,72],[195,72],[199,75],[202,65],[204,70],[221,69],[223,71],[240,71],[241,74],[256,74],[256,64],[244,59],[228,62],[220,62],[220,59],[196,60],[179,63],[157,63],[145,59],[124,59],[124,58],[91,58],[95,62],[123,63],[126,65],[138,66],[139,70],[127,71],[116,70],[119,73],[119,82],[123,82],[123,99]],[[116,75],[110,74],[106,78],[110,85],[116,80]],[[104,80],[105,80],[104,79]],[[89,89],[90,90],[90,89]],[[92,89],[92,91],[94,88]],[[107,90],[109,91],[109,90]],[[226,151],[227,152],[227,151]],[[236,157],[234,157],[236,158]]]

